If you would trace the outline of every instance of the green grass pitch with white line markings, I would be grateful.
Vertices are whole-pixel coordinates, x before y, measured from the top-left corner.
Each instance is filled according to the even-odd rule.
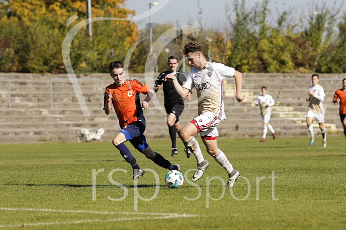
[[[164,185],[168,170],[130,148],[148,169],[133,181],[110,142],[0,145],[0,229],[346,229],[346,141],[327,140],[219,139],[241,174],[232,190],[206,154],[193,184],[196,161],[181,142],[174,158],[170,141],[148,142],[182,174],[193,169],[175,190]]]

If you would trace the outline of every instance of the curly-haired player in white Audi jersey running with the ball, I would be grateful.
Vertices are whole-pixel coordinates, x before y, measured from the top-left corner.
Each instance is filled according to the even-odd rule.
[[[223,79],[234,77],[235,98],[238,102],[242,102],[245,99],[240,95],[242,75],[224,64],[207,62],[203,56],[203,47],[196,42],[186,44],[183,53],[189,65],[192,66],[185,83],[181,86],[176,77],[171,74],[167,74],[165,80],[173,81],[174,88],[180,97],[184,97],[193,87],[197,92],[198,116],[180,131],[181,140],[187,144],[197,160],[197,169],[192,176],[192,181],[200,179],[209,167],[209,162],[204,160],[198,142],[193,137],[199,133],[208,154],[228,173],[227,186],[232,187],[240,174],[233,169],[225,154],[217,148],[217,125],[221,120],[226,119],[222,92]]]

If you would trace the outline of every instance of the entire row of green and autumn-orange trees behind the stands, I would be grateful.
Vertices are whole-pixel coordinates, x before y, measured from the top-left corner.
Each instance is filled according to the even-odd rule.
[[[124,7],[124,2],[92,1],[92,17],[134,15],[134,11]],[[273,18],[268,2],[261,0],[248,7],[245,0],[233,0],[232,7],[225,5],[229,26],[207,28],[202,24],[203,9],[197,0],[194,11],[197,15],[192,15],[196,21],[192,18],[189,21],[198,31],[181,33],[166,49],[155,54],[158,71],[167,69],[168,56],[182,59],[184,44],[197,41],[203,45],[206,58],[210,54],[212,61],[241,72],[346,72],[346,13],[339,17],[340,6],[312,2],[307,15],[299,14],[297,8],[292,7]],[[78,18],[67,27],[66,20],[71,16]],[[69,29],[84,19],[84,0],[0,3],[0,71],[65,72],[62,42]],[[156,24],[152,41],[172,27],[179,27],[179,23]],[[129,48],[139,39],[143,40],[133,51],[129,70],[144,72],[150,48],[149,29],[137,31],[137,26],[126,20],[99,20],[92,23],[92,34],[91,40],[83,28],[72,41],[70,58],[75,72],[107,72],[108,63],[123,61]]]

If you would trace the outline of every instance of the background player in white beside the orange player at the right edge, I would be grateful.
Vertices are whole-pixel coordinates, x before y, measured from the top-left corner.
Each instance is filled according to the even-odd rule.
[[[307,124],[307,131],[310,133],[310,142],[309,145],[313,144],[313,141],[315,140],[315,136],[313,133],[312,128],[312,120],[313,118],[318,122],[319,128],[322,133],[322,146],[327,146],[327,140],[326,140],[326,130],[324,127],[325,117],[324,117],[324,108],[322,101],[324,100],[324,90],[323,87],[318,84],[319,82],[319,75],[317,73],[312,74],[311,76],[312,85],[308,88],[309,97],[306,98],[306,101],[309,102],[309,105],[307,107],[306,112],[306,124]]]

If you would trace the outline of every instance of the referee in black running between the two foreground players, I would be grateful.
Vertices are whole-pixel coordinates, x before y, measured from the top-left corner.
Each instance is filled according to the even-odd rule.
[[[172,153],[171,156],[174,157],[178,153],[176,149],[176,133],[180,133],[181,124],[179,121],[179,116],[184,110],[184,101],[180,96],[176,93],[173,82],[172,81],[163,81],[164,77],[170,73],[175,75],[179,84],[182,85],[184,81],[186,81],[186,74],[180,71],[177,71],[178,67],[178,59],[175,56],[168,57],[168,67],[169,71],[165,71],[160,73],[157,77],[154,85],[154,90],[157,92],[161,88],[161,84],[163,83],[163,96],[164,96],[164,108],[167,113],[167,126],[168,132],[170,136],[170,140],[172,141]],[[192,91],[188,92],[186,95],[187,100],[191,100]],[[190,150],[185,145],[185,153],[187,158],[191,156]]]

